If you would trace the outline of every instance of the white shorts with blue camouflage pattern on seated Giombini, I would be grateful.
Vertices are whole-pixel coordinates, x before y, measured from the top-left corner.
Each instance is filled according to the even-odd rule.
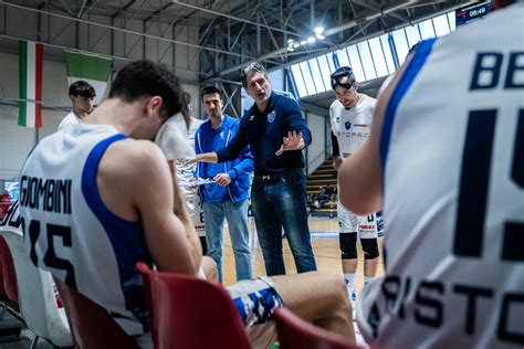
[[[284,305],[269,277],[245,279],[226,287],[239,310],[254,348],[269,348],[276,339],[273,313]]]

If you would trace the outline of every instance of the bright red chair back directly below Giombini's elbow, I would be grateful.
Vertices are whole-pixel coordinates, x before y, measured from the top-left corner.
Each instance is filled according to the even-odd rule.
[[[151,271],[137,263],[156,349],[252,348],[226,289],[196,277]]]

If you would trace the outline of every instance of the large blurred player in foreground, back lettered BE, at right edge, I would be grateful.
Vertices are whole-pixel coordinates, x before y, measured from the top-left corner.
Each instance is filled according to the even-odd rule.
[[[357,320],[377,348],[524,346],[524,3],[420,43],[340,169],[381,204],[386,275]]]

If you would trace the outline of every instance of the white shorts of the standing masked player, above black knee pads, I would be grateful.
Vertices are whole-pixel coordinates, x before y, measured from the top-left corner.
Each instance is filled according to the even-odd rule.
[[[340,234],[357,232],[360,239],[377,239],[377,214],[373,213],[369,215],[358,215],[349,210],[346,210],[340,203],[337,202],[336,214],[338,216],[338,226],[340,228]]]

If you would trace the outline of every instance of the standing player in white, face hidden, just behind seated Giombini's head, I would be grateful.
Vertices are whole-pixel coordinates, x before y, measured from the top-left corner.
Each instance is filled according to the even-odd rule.
[[[198,197],[198,187],[192,186],[197,166],[185,161],[195,157],[195,133],[203,120],[191,116],[191,96],[187,92],[182,94],[182,103],[185,105],[182,112],[171,116],[163,125],[155,137],[155,142],[166,156],[174,179],[180,186],[189,216],[202,244],[202,253],[206,254],[208,248],[202,205]]]

